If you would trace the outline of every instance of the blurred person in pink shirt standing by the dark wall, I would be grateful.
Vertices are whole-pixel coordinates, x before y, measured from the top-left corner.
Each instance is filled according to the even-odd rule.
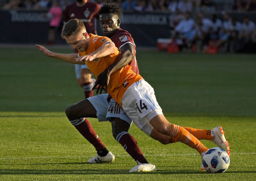
[[[51,19],[48,35],[48,44],[54,44],[56,30],[60,26],[62,10],[60,8],[60,0],[55,0],[54,5],[48,11],[47,16]]]

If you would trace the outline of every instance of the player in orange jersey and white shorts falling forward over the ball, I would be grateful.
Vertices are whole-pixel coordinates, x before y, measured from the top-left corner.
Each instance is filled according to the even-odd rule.
[[[36,45],[45,55],[73,64],[87,64],[90,71],[97,77],[118,58],[120,52],[107,37],[89,34],[83,23],[77,19],[65,24],[62,35],[68,44],[79,51],[79,54],[58,54]],[[163,116],[162,109],[156,101],[155,93],[150,84],[142,76],[135,74],[130,65],[111,72],[109,83],[105,86],[109,95],[124,109],[134,123],[146,134],[156,140],[162,135],[171,137],[173,142],[179,141],[196,149],[201,155],[208,150],[197,138],[199,129],[184,128],[169,123]],[[79,103],[77,103],[79,104]],[[72,109],[72,107],[69,107]],[[85,108],[86,109],[86,108]],[[67,113],[67,112],[66,112]],[[71,122],[82,122],[84,117],[77,119],[74,114],[67,114]],[[73,120],[72,120],[73,116]],[[190,132],[188,130],[190,130]],[[192,134],[195,134],[195,136]],[[207,131],[204,133],[208,135]],[[216,135],[216,136],[215,136]],[[218,135],[218,136],[217,136]],[[202,134],[201,134],[202,136]],[[207,138],[207,136],[206,136]],[[208,135],[208,139],[216,141],[218,146],[228,150],[229,146],[221,127],[217,127]]]

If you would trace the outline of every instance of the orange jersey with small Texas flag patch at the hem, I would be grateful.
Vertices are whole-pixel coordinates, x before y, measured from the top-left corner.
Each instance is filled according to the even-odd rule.
[[[97,36],[93,34],[89,34],[89,36],[91,37],[90,45],[84,52],[79,51],[79,56],[88,55],[93,51],[96,51],[107,41],[111,41],[108,37],[105,36]],[[85,63],[89,70],[97,78],[101,72],[109,67],[109,65],[114,63],[119,54],[120,52],[116,47],[114,53],[105,57],[94,59],[93,61],[85,61]],[[121,101],[125,91],[131,84],[137,82],[140,79],[143,79],[142,76],[134,73],[130,65],[126,65],[125,67],[120,68],[110,74],[108,93],[122,107]]]

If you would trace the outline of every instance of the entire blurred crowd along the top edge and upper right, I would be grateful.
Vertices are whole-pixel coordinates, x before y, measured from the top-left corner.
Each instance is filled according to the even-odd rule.
[[[233,13],[256,13],[256,0],[91,0],[102,5],[116,3],[123,12],[165,12],[171,16],[171,50],[189,49],[209,53],[255,51],[255,19],[248,16],[240,22]],[[75,0],[2,0],[5,10],[47,10],[51,18],[59,17],[65,7]],[[225,11],[224,11],[225,10]],[[191,14],[193,12],[193,14]],[[207,17],[204,13],[207,13]],[[222,12],[215,14],[216,12]],[[212,17],[210,17],[213,15]],[[51,22],[54,19],[52,19]],[[58,27],[60,23],[50,25]],[[54,31],[49,33],[54,39]],[[254,50],[250,50],[254,48]]]

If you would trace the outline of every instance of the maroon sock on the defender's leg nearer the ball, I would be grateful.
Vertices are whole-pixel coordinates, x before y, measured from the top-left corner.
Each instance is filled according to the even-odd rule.
[[[130,156],[140,163],[148,163],[144,157],[142,151],[139,149],[139,146],[136,140],[127,132],[121,132],[117,135],[116,140],[123,146],[125,151],[130,154]]]

